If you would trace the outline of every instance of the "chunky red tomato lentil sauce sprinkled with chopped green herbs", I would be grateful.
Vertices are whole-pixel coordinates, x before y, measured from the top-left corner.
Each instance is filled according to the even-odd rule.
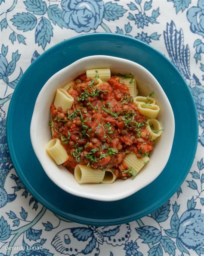
[[[118,178],[130,177],[123,160],[127,153],[148,156],[153,144],[145,130],[146,118],[133,104],[119,77],[96,86],[80,75],[68,93],[74,97],[69,111],[52,104],[53,138],[59,138],[69,155],[64,163],[74,173],[77,163],[95,169],[111,168]],[[142,137],[141,137],[142,134]],[[145,137],[145,138],[144,138]]]

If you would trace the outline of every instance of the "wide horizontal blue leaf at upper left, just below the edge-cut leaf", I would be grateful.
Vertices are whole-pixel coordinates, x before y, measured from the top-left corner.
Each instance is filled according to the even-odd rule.
[[[23,32],[34,29],[37,24],[37,18],[32,13],[17,13],[11,21],[17,29]]]

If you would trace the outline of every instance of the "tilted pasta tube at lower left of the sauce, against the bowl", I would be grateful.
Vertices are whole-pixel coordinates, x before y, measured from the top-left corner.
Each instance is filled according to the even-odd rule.
[[[52,139],[48,142],[46,150],[49,155],[56,161],[56,164],[64,163],[68,160],[68,154],[65,148],[62,146],[59,139]]]

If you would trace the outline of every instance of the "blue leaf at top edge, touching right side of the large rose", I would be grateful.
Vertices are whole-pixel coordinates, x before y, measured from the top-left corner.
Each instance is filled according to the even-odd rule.
[[[119,19],[124,15],[124,13],[127,12],[127,10],[123,8],[123,6],[118,5],[117,3],[108,2],[105,4],[104,7],[105,7],[104,19],[108,21]]]

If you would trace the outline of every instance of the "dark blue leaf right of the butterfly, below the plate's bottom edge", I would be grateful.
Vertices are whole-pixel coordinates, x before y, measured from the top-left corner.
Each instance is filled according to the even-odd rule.
[[[161,240],[161,231],[156,227],[144,226],[136,228],[139,238],[143,239],[142,243],[158,243]]]

